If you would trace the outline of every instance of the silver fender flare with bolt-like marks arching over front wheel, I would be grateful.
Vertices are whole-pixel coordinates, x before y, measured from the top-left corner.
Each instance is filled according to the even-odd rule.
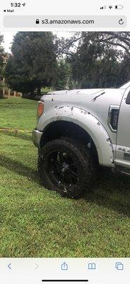
[[[44,129],[53,121],[69,121],[81,126],[95,143],[100,165],[114,167],[114,151],[110,136],[101,122],[90,111],[70,106],[55,107],[44,114]],[[42,129],[42,117],[38,126],[40,130],[44,131]]]

